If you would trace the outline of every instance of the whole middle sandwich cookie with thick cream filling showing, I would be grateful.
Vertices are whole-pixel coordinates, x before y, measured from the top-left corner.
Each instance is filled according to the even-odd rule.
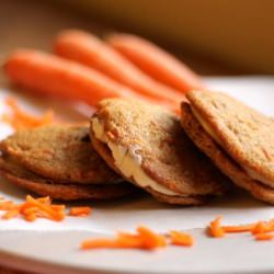
[[[202,204],[226,178],[201,153],[172,113],[139,101],[104,100],[91,118],[96,151],[126,180],[160,201]]]

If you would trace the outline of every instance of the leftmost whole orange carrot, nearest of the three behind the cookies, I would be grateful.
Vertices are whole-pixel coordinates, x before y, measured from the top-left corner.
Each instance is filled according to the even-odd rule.
[[[141,96],[96,70],[38,50],[15,52],[5,61],[4,70],[19,85],[44,95],[83,101],[92,106],[106,98],[132,98],[178,109],[169,102]]]

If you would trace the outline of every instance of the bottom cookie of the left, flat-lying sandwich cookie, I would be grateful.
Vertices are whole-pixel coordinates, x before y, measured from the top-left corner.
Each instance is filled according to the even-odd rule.
[[[13,184],[42,196],[62,201],[76,199],[110,199],[128,196],[136,192],[128,183],[116,184],[77,184],[59,183],[52,179],[42,178],[22,169],[7,158],[0,158],[1,174]]]

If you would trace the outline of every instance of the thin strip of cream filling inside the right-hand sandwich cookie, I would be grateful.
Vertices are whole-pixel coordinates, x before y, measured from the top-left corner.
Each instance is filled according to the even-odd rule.
[[[195,107],[191,106],[192,113],[193,115],[196,117],[196,119],[198,121],[198,123],[202,125],[202,127],[206,130],[206,133],[218,144],[222,147],[221,145],[221,140],[216,136],[216,134],[214,133],[214,130],[212,129],[210,125],[202,117],[202,115],[197,112],[197,110],[195,110]],[[237,161],[237,160],[236,160]],[[237,161],[238,162],[238,161]],[[239,162],[238,162],[239,163]],[[261,174],[256,173],[255,171],[253,171],[252,169],[250,169],[249,167],[239,163],[240,167],[247,172],[247,174],[255,180],[259,181],[261,183],[264,184],[274,184],[274,182],[266,180],[265,178],[263,178]]]

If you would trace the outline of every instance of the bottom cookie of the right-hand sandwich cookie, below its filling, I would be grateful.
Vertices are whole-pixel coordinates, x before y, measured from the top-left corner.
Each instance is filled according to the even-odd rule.
[[[274,204],[274,189],[252,180],[206,133],[186,103],[182,103],[181,124],[195,145],[209,157],[215,165],[236,185],[246,189],[258,199]]]

